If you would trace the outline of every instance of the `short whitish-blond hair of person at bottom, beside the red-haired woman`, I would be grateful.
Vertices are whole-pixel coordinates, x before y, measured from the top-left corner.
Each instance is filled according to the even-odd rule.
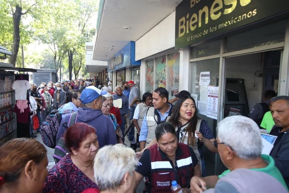
[[[137,163],[134,150],[123,144],[100,148],[93,167],[99,190],[116,190],[123,182],[126,172],[133,175]]]

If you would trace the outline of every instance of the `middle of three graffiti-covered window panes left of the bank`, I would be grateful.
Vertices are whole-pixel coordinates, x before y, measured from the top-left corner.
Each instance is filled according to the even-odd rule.
[[[156,88],[166,88],[166,56],[156,58]]]

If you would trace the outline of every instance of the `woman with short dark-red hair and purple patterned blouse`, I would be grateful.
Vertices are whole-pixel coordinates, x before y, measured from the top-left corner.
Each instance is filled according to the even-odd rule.
[[[64,134],[69,153],[48,172],[43,192],[82,192],[97,188],[93,160],[99,149],[95,128],[75,123]]]

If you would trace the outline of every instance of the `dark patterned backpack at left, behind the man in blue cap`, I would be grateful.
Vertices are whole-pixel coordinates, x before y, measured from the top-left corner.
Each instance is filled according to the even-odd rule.
[[[74,110],[53,110],[47,115],[47,117],[43,120],[40,128],[40,134],[43,143],[50,148],[54,148],[56,145],[56,136],[59,129],[60,122],[62,120],[62,116],[67,113],[75,112]]]

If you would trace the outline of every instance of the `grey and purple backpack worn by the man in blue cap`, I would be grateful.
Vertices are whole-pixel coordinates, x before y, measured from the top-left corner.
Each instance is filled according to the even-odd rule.
[[[65,123],[63,123],[63,126],[67,129],[68,127],[70,127],[71,125],[76,123],[77,117],[78,117],[78,112],[71,113],[68,124],[65,122]],[[67,147],[65,147],[64,138],[60,138],[57,141],[57,145],[55,146],[54,154],[52,155],[52,157],[54,158],[55,164],[57,162],[59,162],[64,156],[66,156],[68,154],[68,152],[69,152],[69,150],[67,149]]]

